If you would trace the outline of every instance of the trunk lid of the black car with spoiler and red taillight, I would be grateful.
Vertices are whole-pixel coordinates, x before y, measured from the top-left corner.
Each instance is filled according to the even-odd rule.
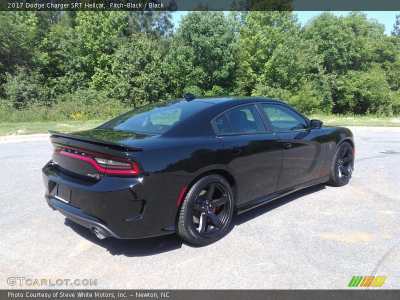
[[[141,147],[123,141],[140,138],[140,133],[90,129],[73,133],[49,131],[54,147],[52,159],[59,171],[68,175],[99,180],[105,175],[137,175],[140,167],[134,157]]]

